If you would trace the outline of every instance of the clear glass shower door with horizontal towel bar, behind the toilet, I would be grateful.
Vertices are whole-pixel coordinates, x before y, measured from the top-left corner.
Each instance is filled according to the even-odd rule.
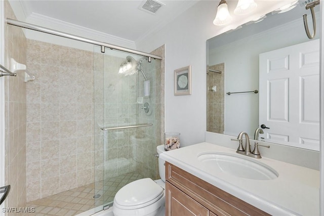
[[[102,197],[96,205],[107,206],[126,184],[158,177],[154,153],[160,140],[159,92],[155,90],[159,80],[154,59],[147,62],[142,56],[110,49],[99,52],[94,64],[94,140],[96,191]],[[130,59],[137,64],[135,72],[118,73]]]

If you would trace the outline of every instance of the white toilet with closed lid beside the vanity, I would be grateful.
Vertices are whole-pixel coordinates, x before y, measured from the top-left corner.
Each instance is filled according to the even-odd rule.
[[[164,145],[156,147],[158,155],[164,152]],[[120,188],[113,200],[114,216],[156,216],[165,215],[165,161],[158,158],[161,179],[136,180]]]

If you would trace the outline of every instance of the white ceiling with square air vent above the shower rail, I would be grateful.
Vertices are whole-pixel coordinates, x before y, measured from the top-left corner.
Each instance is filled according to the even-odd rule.
[[[139,9],[146,0],[19,1],[25,17],[20,21],[40,17],[136,41],[169,23],[199,0],[161,0],[163,6],[155,14]]]

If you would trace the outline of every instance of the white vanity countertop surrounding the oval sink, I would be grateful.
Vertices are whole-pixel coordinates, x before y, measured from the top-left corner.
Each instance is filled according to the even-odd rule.
[[[244,156],[272,167],[279,174],[274,180],[253,180],[211,169],[197,157],[202,152],[237,154],[235,151],[204,142],[166,151],[159,157],[269,214],[319,215],[318,170],[266,157]]]

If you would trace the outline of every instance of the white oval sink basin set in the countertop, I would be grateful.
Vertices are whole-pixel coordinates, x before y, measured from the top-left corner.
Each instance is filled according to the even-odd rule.
[[[246,158],[245,158],[246,157]],[[198,155],[198,160],[211,169],[219,169],[227,174],[254,180],[273,180],[278,178],[270,166],[244,155],[223,152],[208,152]]]

